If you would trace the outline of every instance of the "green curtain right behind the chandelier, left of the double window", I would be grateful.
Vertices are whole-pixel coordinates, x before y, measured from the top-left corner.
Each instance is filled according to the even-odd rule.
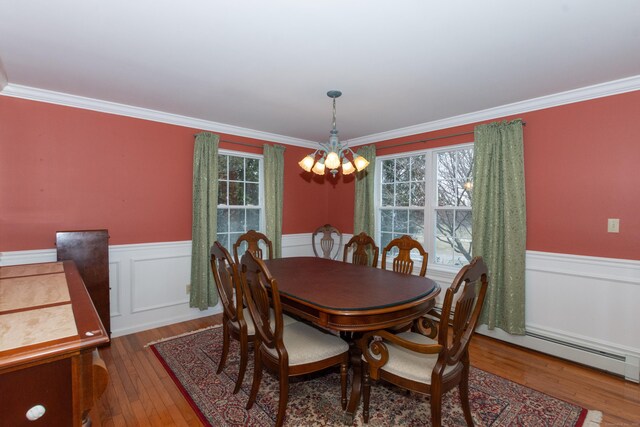
[[[376,215],[373,199],[376,172],[376,146],[368,145],[357,151],[357,154],[369,161],[369,166],[356,172],[355,206],[353,211],[353,234],[363,231],[375,239]]]

